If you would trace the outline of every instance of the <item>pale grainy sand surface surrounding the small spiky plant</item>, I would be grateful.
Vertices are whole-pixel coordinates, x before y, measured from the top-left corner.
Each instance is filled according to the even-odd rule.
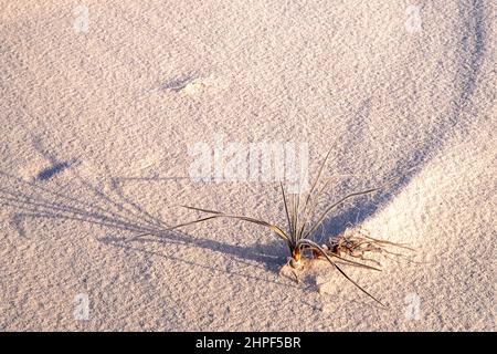
[[[0,1],[0,330],[495,331],[496,8]],[[416,248],[347,268],[387,310],[258,226],[126,241],[284,223],[277,183],[191,178],[220,136],[331,147],[328,204],[394,180],[321,230]]]

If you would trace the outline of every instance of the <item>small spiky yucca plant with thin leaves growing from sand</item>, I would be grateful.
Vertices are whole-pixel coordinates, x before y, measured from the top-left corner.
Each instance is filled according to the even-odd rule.
[[[198,223],[198,222],[216,219],[216,218],[236,219],[236,220],[242,220],[242,221],[252,222],[255,225],[266,227],[269,230],[272,230],[283,242],[285,242],[286,247],[288,248],[288,252],[289,252],[289,258],[288,258],[289,260],[288,260],[287,264],[289,264],[292,268],[294,268],[294,269],[300,268],[304,251],[310,250],[310,251],[313,251],[313,254],[315,254],[315,256],[316,254],[322,256],[347,280],[352,282],[357,288],[359,288],[368,296],[370,296],[371,299],[373,299],[374,301],[377,301],[378,303],[383,305],[379,300],[377,300],[369,292],[367,292],[364,289],[362,289],[357,282],[355,282],[352,279],[350,279],[345,273],[345,271],[334,261],[334,258],[340,259],[341,261],[349,263],[349,264],[355,264],[355,266],[373,269],[373,270],[379,270],[379,269],[345,259],[345,258],[340,257],[339,254],[330,252],[329,250],[320,247],[317,242],[315,242],[313,240],[316,231],[319,229],[319,227],[322,225],[322,222],[329,217],[330,212],[335,208],[337,208],[338,206],[340,206],[348,199],[351,199],[353,197],[358,197],[361,195],[371,194],[379,189],[379,188],[372,188],[372,189],[368,189],[368,190],[363,190],[363,191],[359,191],[359,192],[349,194],[349,195],[342,197],[341,199],[339,199],[338,201],[336,201],[335,204],[332,204],[331,206],[327,207],[316,218],[316,216],[317,216],[316,208],[317,208],[317,205],[319,204],[319,198],[322,196],[327,185],[329,184],[329,180],[328,180],[326,184],[324,184],[324,186],[319,190],[317,190],[317,186],[319,184],[319,180],[320,180],[320,177],[322,174],[322,169],[326,165],[326,162],[328,160],[330,152],[331,150],[329,150],[327,153],[325,159],[322,160],[322,163],[319,167],[319,171],[313,181],[313,185],[311,185],[309,191],[305,196],[300,196],[300,195],[287,196],[287,194],[285,192],[285,188],[283,187],[283,184],[282,183],[279,184],[281,189],[282,189],[283,205],[285,208],[285,217],[286,217],[286,221],[287,221],[287,227],[285,228],[286,230],[284,230],[284,228],[281,228],[274,223],[271,223],[271,222],[267,222],[264,220],[260,220],[260,219],[255,219],[252,217],[235,216],[235,215],[230,215],[230,214],[225,214],[222,211],[202,209],[202,208],[197,208],[197,207],[191,207],[191,206],[183,206],[183,207],[191,209],[191,210],[204,212],[208,216],[204,218],[201,218],[201,219],[197,219],[194,221],[178,225],[178,226],[173,227],[173,229],[186,227],[186,226]]]

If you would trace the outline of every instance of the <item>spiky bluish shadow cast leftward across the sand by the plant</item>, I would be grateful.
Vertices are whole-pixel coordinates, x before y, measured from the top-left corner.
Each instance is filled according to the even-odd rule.
[[[87,191],[86,195],[93,198],[88,197],[82,200],[51,189],[44,184],[27,181],[0,171],[0,180],[2,181],[0,205],[13,209],[11,222],[20,236],[27,236],[22,227],[27,219],[76,220],[119,231],[120,237],[113,239],[113,246],[117,244],[117,240],[121,241],[121,247],[145,244],[145,242],[180,243],[219,252],[251,267],[262,264],[266,269],[276,270],[278,264],[282,263],[283,249],[279,249],[276,244],[264,246],[266,254],[263,254],[261,246],[257,244],[242,247],[193,237],[177,230],[167,230],[170,228],[169,225],[128,200],[120,189],[117,189],[117,196],[120,198],[120,201],[118,201],[116,200],[118,198],[106,195],[98,187],[84,180],[77,173],[73,171],[73,174],[78,185],[84,187],[85,194]],[[125,232],[124,237],[123,232]],[[150,238],[127,241],[137,233],[150,233]],[[108,239],[102,239],[101,241],[108,241]]]

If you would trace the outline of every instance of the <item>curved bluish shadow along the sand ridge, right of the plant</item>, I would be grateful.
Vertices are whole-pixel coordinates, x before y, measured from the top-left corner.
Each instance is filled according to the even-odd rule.
[[[472,124],[470,119],[462,119],[462,115],[467,110],[469,100],[478,83],[482,64],[485,58],[486,27],[485,23],[485,2],[482,0],[459,1],[461,17],[461,40],[459,40],[459,64],[456,72],[455,82],[459,84],[459,94],[453,100],[450,112],[440,123],[430,127],[435,134],[426,134],[423,140],[419,142],[414,154],[396,162],[390,173],[383,176],[383,180],[391,181],[388,188],[364,198],[358,208],[345,207],[324,225],[327,235],[331,237],[342,233],[348,225],[355,222],[361,223],[367,218],[373,216],[382,206],[392,200],[430,162],[432,156],[440,150],[455,128],[467,132]],[[366,119],[369,115],[369,101],[364,101],[358,110],[355,117],[355,124],[360,119]],[[357,129],[357,127],[356,127]],[[359,127],[360,129],[360,127]],[[352,132],[352,138],[360,135],[359,132]],[[358,138],[358,137],[356,137]],[[347,148],[353,146],[353,142],[346,144]],[[343,152],[347,154],[347,152]],[[342,154],[342,155],[343,155]],[[376,186],[370,186],[376,187]],[[342,189],[342,188],[338,188]]]

